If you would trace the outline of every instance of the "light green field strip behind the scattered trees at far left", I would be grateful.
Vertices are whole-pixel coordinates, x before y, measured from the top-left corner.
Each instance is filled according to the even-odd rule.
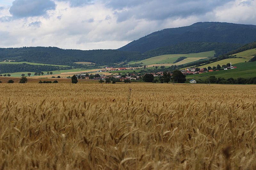
[[[84,70],[84,69],[54,70],[54,71],[52,71],[52,76],[54,76],[54,74],[68,73],[68,72],[78,72],[78,71],[89,71],[89,70]],[[46,75],[46,73],[48,71],[42,71],[42,72],[44,73],[44,75]],[[28,73],[31,73],[30,77],[35,76],[34,75],[35,72],[29,72],[29,71],[26,71],[26,72],[15,72],[15,73],[2,73],[2,75],[4,75],[4,74],[11,74],[11,77],[21,77],[21,74],[25,74],[25,76],[28,76]]]

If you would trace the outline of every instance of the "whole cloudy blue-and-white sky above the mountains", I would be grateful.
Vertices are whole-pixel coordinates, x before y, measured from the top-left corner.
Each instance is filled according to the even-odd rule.
[[[0,48],[117,49],[165,28],[256,25],[256,0],[0,0]]]

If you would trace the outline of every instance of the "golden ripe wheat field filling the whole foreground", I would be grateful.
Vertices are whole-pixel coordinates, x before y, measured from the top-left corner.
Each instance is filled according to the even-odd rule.
[[[0,170],[256,168],[256,85],[0,89]]]

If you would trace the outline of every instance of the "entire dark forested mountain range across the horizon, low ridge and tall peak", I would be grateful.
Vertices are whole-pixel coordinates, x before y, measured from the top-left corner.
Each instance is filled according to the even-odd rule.
[[[168,28],[146,35],[119,49],[74,50],[57,47],[0,48],[0,61],[76,65],[92,62],[115,65],[164,54],[215,51],[221,55],[256,41],[256,26],[221,22],[199,22],[191,26]]]

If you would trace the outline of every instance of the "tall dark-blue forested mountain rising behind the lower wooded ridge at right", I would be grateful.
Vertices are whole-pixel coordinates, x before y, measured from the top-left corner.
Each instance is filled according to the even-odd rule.
[[[191,26],[168,28],[146,35],[119,48],[121,51],[146,51],[184,42],[220,42],[246,44],[256,40],[256,26],[198,22]]]

